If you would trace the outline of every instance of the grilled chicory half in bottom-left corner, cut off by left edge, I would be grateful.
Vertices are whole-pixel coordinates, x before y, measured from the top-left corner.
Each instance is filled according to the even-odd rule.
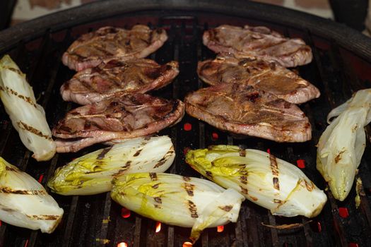
[[[61,221],[63,209],[32,176],[0,157],[0,219],[48,234]]]

